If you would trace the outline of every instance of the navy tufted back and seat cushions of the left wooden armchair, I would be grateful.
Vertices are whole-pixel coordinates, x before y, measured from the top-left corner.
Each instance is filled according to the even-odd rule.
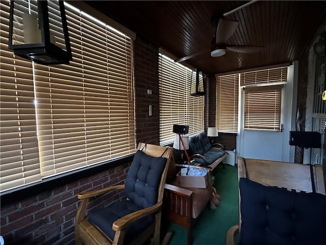
[[[158,185],[167,158],[148,156],[137,151],[125,182],[125,194],[128,200],[115,202],[105,208],[91,211],[90,222],[98,226],[112,240],[115,231],[112,224],[115,220],[134,211],[150,207],[157,202]],[[126,228],[124,244],[154,222],[154,214],[136,220]]]

